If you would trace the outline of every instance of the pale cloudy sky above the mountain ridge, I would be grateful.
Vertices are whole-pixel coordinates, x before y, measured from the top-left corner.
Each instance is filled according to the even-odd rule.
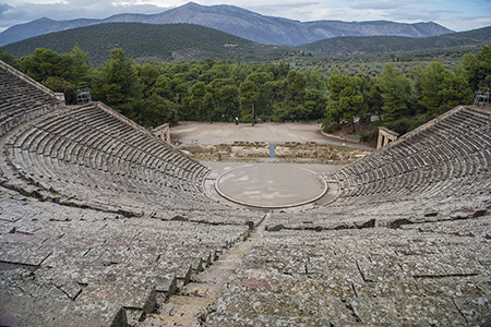
[[[159,13],[187,0],[0,0],[0,32],[43,16],[104,19],[117,13]],[[490,0],[196,0],[204,5],[238,5],[263,15],[298,21],[340,20],[435,22],[457,32],[491,26]]]

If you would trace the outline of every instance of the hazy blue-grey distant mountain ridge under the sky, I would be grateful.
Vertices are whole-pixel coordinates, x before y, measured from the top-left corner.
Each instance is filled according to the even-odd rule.
[[[133,22],[147,24],[187,23],[215,28],[235,36],[265,45],[298,46],[339,36],[407,36],[428,37],[452,33],[436,23],[405,24],[386,21],[299,22],[288,19],[265,16],[227,4],[201,5],[189,2],[158,14],[118,14],[104,20],[77,19],[53,21],[46,17],[11,26],[0,33],[0,46],[29,37],[110,22]]]

